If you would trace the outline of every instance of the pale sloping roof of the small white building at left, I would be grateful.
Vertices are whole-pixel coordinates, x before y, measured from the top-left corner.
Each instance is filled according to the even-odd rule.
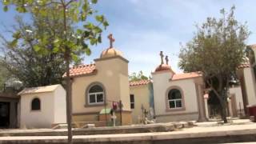
[[[61,86],[61,85],[58,84],[58,85],[51,85],[51,86],[38,86],[38,87],[25,88],[24,90],[19,92],[18,95],[52,92],[56,90],[58,86]]]

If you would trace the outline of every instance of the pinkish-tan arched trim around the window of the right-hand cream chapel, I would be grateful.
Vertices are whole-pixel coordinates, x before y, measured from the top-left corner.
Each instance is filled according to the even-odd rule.
[[[170,92],[170,90],[173,90],[173,89],[177,89],[181,92],[182,94],[182,107],[181,108],[173,108],[173,109],[170,109],[170,106],[169,106],[169,102],[168,102],[168,94]],[[170,86],[167,90],[166,90],[166,112],[170,112],[170,111],[182,111],[182,110],[186,110],[186,106],[185,106],[185,100],[184,100],[184,93],[183,93],[183,90],[181,87],[179,86]]]

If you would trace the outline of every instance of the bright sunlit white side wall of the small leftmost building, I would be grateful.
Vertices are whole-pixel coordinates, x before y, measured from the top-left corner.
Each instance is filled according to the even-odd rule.
[[[66,123],[66,90],[62,86],[54,91],[54,123]]]

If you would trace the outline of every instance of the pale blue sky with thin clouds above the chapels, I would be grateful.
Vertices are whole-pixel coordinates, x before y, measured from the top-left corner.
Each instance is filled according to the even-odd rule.
[[[219,18],[219,11],[230,10],[231,6],[236,6],[238,21],[247,22],[251,34],[246,43],[256,43],[255,0],[98,0],[95,9],[106,16],[110,26],[103,32],[102,43],[92,47],[92,54],[85,57],[84,63],[93,63],[109,47],[106,37],[111,33],[114,47],[129,60],[130,74],[142,70],[149,76],[160,64],[160,51],[169,56],[172,69],[181,73],[180,44],[193,38],[196,24],[202,24],[207,17]],[[12,10],[0,10],[0,22],[12,26],[14,15]],[[0,26],[2,30],[4,27]]]

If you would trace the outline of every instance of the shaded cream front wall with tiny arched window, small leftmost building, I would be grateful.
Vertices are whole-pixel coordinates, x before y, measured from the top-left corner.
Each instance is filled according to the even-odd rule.
[[[54,122],[54,93],[24,94],[21,96],[21,127],[50,128]],[[41,110],[31,110],[34,98],[41,101]]]

